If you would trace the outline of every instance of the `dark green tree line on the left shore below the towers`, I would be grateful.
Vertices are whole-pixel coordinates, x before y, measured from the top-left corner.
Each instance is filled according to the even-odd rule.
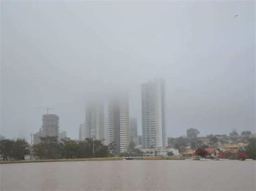
[[[100,140],[83,141],[70,138],[58,142],[57,137],[41,137],[41,143],[30,145],[25,139],[0,137],[0,157],[3,161],[24,160],[26,155],[35,159],[73,159],[111,157],[109,147]],[[94,144],[94,146],[93,146]]]

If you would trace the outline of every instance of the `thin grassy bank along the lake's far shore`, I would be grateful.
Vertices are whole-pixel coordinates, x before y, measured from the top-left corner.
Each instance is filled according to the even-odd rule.
[[[104,160],[123,160],[123,157],[17,160],[17,161],[0,161],[0,164],[24,163],[24,162],[67,162],[67,161],[104,161]],[[184,160],[184,159],[181,159],[180,157],[146,157],[146,158],[137,159],[137,160]]]

